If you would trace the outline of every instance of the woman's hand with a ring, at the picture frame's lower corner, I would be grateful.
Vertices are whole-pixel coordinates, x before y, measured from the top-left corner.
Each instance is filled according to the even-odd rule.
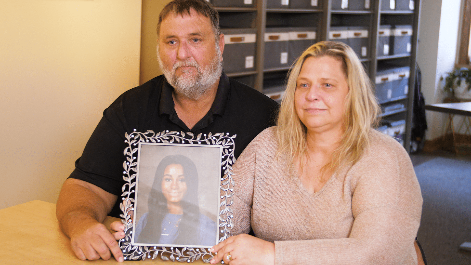
[[[216,264],[221,259],[230,265],[275,264],[275,244],[248,234],[231,236],[212,247],[211,252],[218,252],[211,259],[211,264]],[[227,260],[229,252],[232,260]]]

